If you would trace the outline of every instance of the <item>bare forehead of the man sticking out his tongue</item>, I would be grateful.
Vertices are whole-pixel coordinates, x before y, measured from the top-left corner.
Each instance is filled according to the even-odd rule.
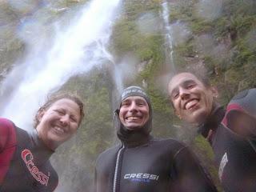
[[[187,81],[197,82],[198,84],[202,84],[202,82],[194,76],[194,74],[190,73],[181,73],[176,74],[173,78],[171,78],[168,89],[169,91],[174,90],[175,87],[182,85],[182,83]]]

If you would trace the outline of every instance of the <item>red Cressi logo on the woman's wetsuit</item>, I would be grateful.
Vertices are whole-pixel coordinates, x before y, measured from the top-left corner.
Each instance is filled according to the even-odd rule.
[[[22,150],[22,159],[25,162],[27,169],[30,171],[30,174],[32,174],[32,176],[42,185],[47,186],[49,177],[39,171],[38,167],[34,165],[34,157],[30,150]]]

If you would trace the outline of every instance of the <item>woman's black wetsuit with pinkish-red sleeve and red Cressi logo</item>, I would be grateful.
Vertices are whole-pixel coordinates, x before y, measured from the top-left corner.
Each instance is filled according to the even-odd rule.
[[[0,191],[50,192],[58,186],[58,175],[49,150],[37,131],[28,134],[6,118],[0,118]]]

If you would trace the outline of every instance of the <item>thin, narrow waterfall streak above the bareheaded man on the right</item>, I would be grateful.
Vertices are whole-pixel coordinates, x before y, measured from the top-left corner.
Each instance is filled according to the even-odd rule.
[[[166,38],[166,63],[170,63],[171,73],[175,71],[174,65],[174,50],[173,50],[173,39],[172,39],[172,29],[169,22],[170,10],[168,6],[168,2],[164,1],[162,3],[162,19],[164,23],[164,32]]]

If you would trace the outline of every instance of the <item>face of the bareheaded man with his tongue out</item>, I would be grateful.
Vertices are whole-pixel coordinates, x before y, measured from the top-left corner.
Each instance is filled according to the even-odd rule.
[[[181,73],[171,79],[168,87],[175,114],[186,122],[200,124],[210,115],[218,91],[206,87],[190,73]]]

